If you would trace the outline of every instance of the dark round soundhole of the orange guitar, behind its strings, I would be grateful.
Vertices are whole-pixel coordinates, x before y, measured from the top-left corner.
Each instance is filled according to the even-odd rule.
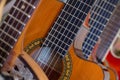
[[[35,59],[36,55],[39,53],[40,55]],[[39,52],[39,49],[36,49],[32,54],[32,57],[46,73],[49,80],[59,79],[63,71],[63,62],[58,53],[53,52],[48,47],[44,47],[41,52]]]

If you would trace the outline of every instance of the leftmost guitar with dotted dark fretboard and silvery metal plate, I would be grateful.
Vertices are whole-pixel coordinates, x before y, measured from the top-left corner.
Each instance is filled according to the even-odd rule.
[[[9,75],[1,74],[1,80],[13,80],[12,76],[19,80],[47,80],[40,67],[37,67],[26,53],[15,49],[38,3],[39,0],[14,1],[7,17],[0,24],[0,73],[10,73]],[[32,64],[36,67],[31,67]]]

